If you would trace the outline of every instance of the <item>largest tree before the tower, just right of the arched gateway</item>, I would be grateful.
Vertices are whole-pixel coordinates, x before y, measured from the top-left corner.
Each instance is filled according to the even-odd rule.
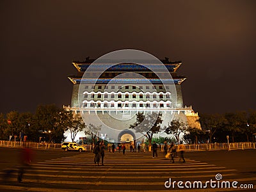
[[[130,129],[143,134],[148,140],[148,150],[151,151],[151,142],[153,135],[159,132],[162,124],[162,113],[152,112],[143,115],[138,112],[136,115],[136,122],[130,125]]]

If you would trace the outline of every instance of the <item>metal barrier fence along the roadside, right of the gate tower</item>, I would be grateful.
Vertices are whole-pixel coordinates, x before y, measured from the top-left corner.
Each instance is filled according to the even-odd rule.
[[[161,145],[161,150],[163,150]],[[202,143],[202,144],[186,144],[186,150],[236,150],[236,149],[247,149],[256,148],[256,143],[253,142],[240,142],[240,143]],[[168,148],[170,145],[168,145]]]

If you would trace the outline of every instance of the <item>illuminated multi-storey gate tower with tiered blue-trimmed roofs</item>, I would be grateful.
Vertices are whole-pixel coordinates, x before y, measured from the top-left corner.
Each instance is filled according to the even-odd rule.
[[[182,64],[181,61],[171,62],[168,58],[161,60],[172,75],[172,81],[175,83],[177,92],[177,105],[175,108],[172,106],[172,93],[166,92],[167,88],[165,90],[156,74],[147,67],[135,63],[120,63],[108,68],[108,70],[103,72],[99,79],[97,79],[97,84],[92,87],[90,79],[93,78],[93,74],[86,73],[86,77],[84,77],[83,74],[93,61],[95,60],[86,58],[86,60],[82,62],[72,62],[74,67],[77,68],[78,74],[77,76],[68,77],[74,86],[71,105],[64,108],[66,110],[74,111],[75,113],[83,113],[83,115],[90,120],[95,119],[95,122],[92,122],[92,124],[95,125],[98,125],[99,122],[97,121],[97,118],[94,118],[93,116],[99,116],[104,124],[113,128],[113,132],[109,133],[109,130],[106,131],[104,126],[101,127],[97,134],[102,138],[115,143],[133,141],[136,140],[136,138],[140,138],[140,133],[129,129],[129,125],[135,122],[135,114],[139,111],[156,111],[156,109],[158,111],[163,111],[167,116],[171,116],[171,114],[174,113],[174,118],[182,120],[190,127],[200,129],[200,124],[197,121],[198,114],[194,113],[191,106],[183,106],[181,83],[186,77],[179,76],[176,72]],[[157,63],[152,63],[152,67],[156,68],[156,70],[159,66],[160,65]],[[146,79],[150,79],[152,85],[143,84],[141,79],[140,81],[142,83],[140,85],[132,84],[132,82],[129,82],[129,79],[119,79],[120,81],[125,81],[122,85],[108,84],[111,79],[120,74],[124,74],[125,72],[135,72],[136,74],[140,74]],[[79,103],[78,94],[81,82],[83,82],[82,88],[84,90],[83,100]],[[116,118],[121,118],[123,120],[122,124],[116,122]],[[163,128],[164,125],[167,124],[168,121],[164,121],[161,127]],[[121,131],[114,131],[114,129]],[[106,132],[108,132],[108,135]]]

